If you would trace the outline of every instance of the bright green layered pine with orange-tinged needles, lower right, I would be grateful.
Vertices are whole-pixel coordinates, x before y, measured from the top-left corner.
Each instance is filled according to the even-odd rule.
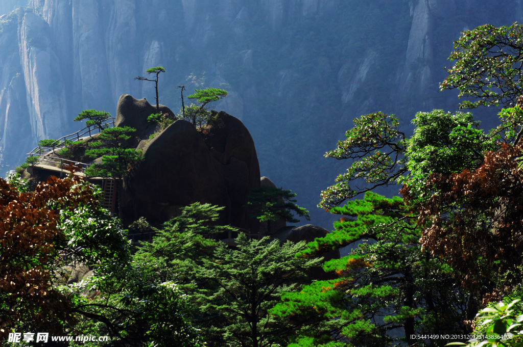
[[[331,212],[347,217],[297,257],[309,258],[347,245],[358,247],[346,257],[325,262],[324,270],[336,272],[338,279],[285,293],[272,311],[288,317],[330,319],[323,330],[302,331],[298,345],[336,346],[336,341],[343,345],[347,340],[355,346],[412,345],[418,341],[411,334],[465,333],[461,322],[468,293],[452,277],[444,259],[422,252],[420,231],[405,218],[408,209],[401,198],[367,192],[363,200],[348,201]],[[391,338],[391,329],[404,330],[406,338]],[[445,343],[423,342],[429,346]]]

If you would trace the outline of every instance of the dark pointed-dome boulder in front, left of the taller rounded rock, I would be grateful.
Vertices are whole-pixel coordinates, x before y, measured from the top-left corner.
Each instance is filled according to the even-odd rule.
[[[140,217],[161,223],[193,202],[225,207],[221,222],[229,220],[231,202],[226,184],[214,168],[214,159],[198,131],[178,120],[143,149],[144,161],[123,187],[124,224]]]

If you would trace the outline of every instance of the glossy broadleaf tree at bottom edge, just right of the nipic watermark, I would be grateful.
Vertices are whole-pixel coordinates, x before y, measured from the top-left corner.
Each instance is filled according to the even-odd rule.
[[[78,297],[78,312],[103,318],[105,326],[93,326],[94,319],[81,322],[79,327],[94,330],[95,336],[111,334],[130,345],[167,347],[176,341],[176,345],[184,347],[203,346],[198,331],[185,315],[187,295],[173,281],[146,283],[142,280],[145,269],[140,265],[133,262],[111,273],[110,279],[87,281],[100,294],[94,299]],[[141,342],[137,343],[137,339]]]

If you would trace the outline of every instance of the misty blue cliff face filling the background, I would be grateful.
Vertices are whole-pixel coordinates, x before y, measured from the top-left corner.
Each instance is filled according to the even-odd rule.
[[[415,112],[456,110],[457,93],[438,87],[452,40],[487,22],[521,21],[522,6],[520,0],[30,0],[28,8],[0,17],[0,164],[12,170],[37,140],[79,129],[72,119],[82,110],[116,114],[121,94],[153,103],[154,83],[134,77],[161,65],[167,69],[161,103],[173,110],[181,106],[178,86],[188,85],[188,93],[228,90],[213,108],[251,131],[261,174],[297,193],[313,224],[330,228],[330,217],[315,205],[349,163],[323,154],[353,119],[394,113],[408,132]],[[476,113],[486,128],[497,119]]]

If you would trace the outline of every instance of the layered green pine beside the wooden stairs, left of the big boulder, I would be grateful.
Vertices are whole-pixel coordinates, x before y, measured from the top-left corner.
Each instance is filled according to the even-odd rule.
[[[136,129],[131,127],[113,127],[104,129],[98,135],[98,141],[89,143],[85,154],[91,158],[102,157],[101,164],[93,164],[85,171],[87,176],[127,177],[133,168],[143,161],[141,153],[134,148],[125,148],[126,140]]]

